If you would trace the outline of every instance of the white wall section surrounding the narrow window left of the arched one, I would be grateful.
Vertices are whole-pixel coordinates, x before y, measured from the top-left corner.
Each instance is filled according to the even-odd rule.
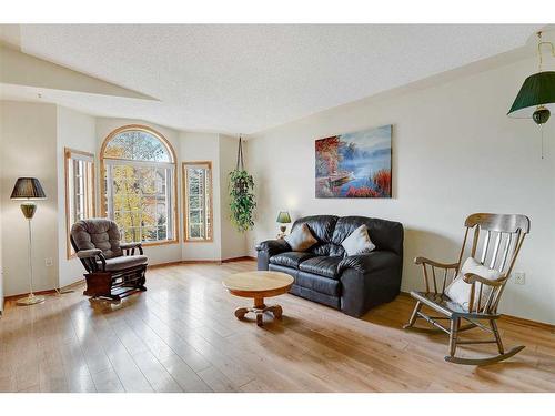
[[[79,258],[69,260],[67,255],[69,230],[65,222],[65,148],[97,154],[95,120],[91,115],[58,106],[58,242],[60,245],[58,256],[60,287],[82,280],[84,273]],[[95,168],[98,165],[98,154],[94,165]],[[98,184],[95,184],[95,189],[98,190]]]

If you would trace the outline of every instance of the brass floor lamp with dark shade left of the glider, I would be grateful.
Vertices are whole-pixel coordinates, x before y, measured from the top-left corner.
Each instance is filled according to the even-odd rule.
[[[36,296],[33,293],[33,264],[32,264],[32,230],[31,220],[37,211],[34,200],[44,200],[47,195],[37,177],[18,177],[10,199],[24,201],[20,207],[29,225],[29,295],[18,300],[18,305],[34,305],[44,302],[44,296]]]

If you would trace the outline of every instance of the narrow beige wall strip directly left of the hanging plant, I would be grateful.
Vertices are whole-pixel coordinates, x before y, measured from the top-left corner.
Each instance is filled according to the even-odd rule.
[[[230,192],[229,177],[236,166],[239,140],[229,135],[220,134],[220,200],[221,209],[221,233],[222,233],[222,260],[236,258],[246,255],[246,234],[235,230],[230,221]],[[246,156],[246,144],[243,143],[243,154]],[[246,166],[249,168],[249,166]]]

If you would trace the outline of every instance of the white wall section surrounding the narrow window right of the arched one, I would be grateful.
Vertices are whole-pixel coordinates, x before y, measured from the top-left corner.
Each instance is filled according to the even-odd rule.
[[[182,258],[215,260],[222,258],[221,211],[220,211],[220,148],[219,135],[212,133],[182,132],[181,161],[182,162],[212,162],[212,207],[213,207],[213,241],[183,243]],[[181,165],[180,165],[181,169]],[[182,191],[182,189],[181,189]],[[182,222],[183,223],[183,222]]]

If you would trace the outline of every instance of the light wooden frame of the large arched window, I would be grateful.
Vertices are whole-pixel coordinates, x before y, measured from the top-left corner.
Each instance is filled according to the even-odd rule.
[[[150,161],[137,161],[137,160],[128,160],[128,159],[115,159],[115,158],[109,158],[104,156],[105,149],[108,146],[108,143],[117,136],[120,133],[123,133],[125,131],[142,131],[149,134],[154,135],[157,139],[159,139],[162,144],[165,145],[168,149],[168,152],[170,154],[170,162],[150,162]],[[155,245],[165,245],[165,244],[178,244],[179,243],[179,213],[178,213],[178,163],[176,163],[176,155],[175,155],[175,150],[173,149],[172,144],[165,136],[160,133],[159,131],[143,124],[127,124],[122,125],[121,128],[118,128],[113,131],[110,132],[102,142],[102,146],[100,149],[100,214],[103,217],[109,217],[108,214],[108,187],[107,187],[107,177],[108,177],[108,171],[107,168],[110,164],[118,164],[117,162],[121,162],[120,164],[125,164],[128,162],[129,165],[143,165],[147,166],[149,164],[151,165],[158,165],[158,166],[163,166],[163,165],[172,165],[172,184],[171,189],[173,190],[173,194],[169,197],[170,202],[170,210],[173,213],[173,220],[172,220],[172,239],[171,240],[161,240],[161,241],[144,241],[141,242],[143,246],[155,246]],[[113,161],[113,162],[112,162]],[[167,190],[168,191],[168,190]]]

